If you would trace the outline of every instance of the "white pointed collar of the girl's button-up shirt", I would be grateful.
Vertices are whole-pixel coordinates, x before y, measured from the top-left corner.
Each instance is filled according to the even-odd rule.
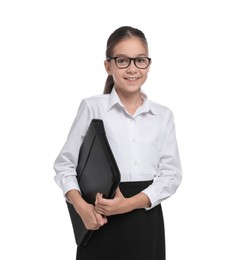
[[[152,114],[156,115],[154,109],[152,108],[150,100],[142,90],[141,90],[141,97],[143,99],[143,104],[138,108],[138,114],[151,112]],[[113,87],[109,97],[108,111],[117,104],[122,108],[124,108],[124,105],[121,102],[115,87]]]

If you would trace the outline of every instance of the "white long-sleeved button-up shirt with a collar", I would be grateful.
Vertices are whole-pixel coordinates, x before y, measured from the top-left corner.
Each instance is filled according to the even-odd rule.
[[[80,191],[76,166],[80,146],[93,118],[102,119],[110,147],[121,173],[121,181],[154,180],[143,192],[153,208],[174,194],[181,183],[182,171],[177,147],[173,113],[147,98],[130,115],[115,88],[82,100],[68,138],[59,153],[54,177],[64,195]],[[149,208],[149,209],[150,209]]]

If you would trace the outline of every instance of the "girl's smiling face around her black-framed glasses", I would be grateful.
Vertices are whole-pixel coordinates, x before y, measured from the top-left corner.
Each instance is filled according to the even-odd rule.
[[[137,37],[131,37],[120,41],[114,48],[112,57],[148,57],[146,46]],[[122,94],[129,95],[139,92],[141,86],[147,79],[148,66],[146,69],[139,69],[132,60],[125,69],[116,66],[115,60],[105,61],[105,68],[109,75],[113,76],[115,88]]]

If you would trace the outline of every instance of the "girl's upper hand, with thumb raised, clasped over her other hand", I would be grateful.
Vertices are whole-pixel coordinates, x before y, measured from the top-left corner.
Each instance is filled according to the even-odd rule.
[[[120,189],[117,188],[113,199],[104,199],[102,194],[96,195],[95,210],[103,216],[122,214],[129,211],[128,199],[123,196]]]

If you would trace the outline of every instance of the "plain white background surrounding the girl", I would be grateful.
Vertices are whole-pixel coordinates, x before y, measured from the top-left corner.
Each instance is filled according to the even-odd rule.
[[[75,259],[53,162],[81,99],[102,93],[122,25],[146,34],[143,90],[175,114],[184,177],[162,203],[167,259],[247,259],[245,3],[0,2],[1,259]]]

